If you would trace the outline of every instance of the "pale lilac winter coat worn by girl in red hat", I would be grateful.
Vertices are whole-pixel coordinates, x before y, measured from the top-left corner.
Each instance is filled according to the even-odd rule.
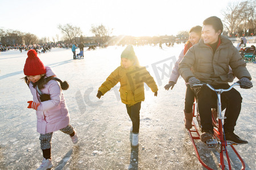
[[[56,76],[50,67],[46,67],[46,76]],[[70,118],[68,107],[65,103],[60,84],[56,80],[50,80],[41,90],[43,94],[49,94],[51,100],[40,101],[40,95],[32,83],[29,84],[33,101],[40,103],[36,111],[37,131],[40,134],[51,133],[68,126]]]

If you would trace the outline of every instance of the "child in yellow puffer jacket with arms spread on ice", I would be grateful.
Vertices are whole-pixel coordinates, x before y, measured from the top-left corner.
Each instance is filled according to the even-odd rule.
[[[133,140],[131,145],[139,145],[139,111],[144,101],[144,83],[151,88],[154,95],[158,95],[158,87],[154,78],[148,73],[146,67],[139,65],[132,45],[127,45],[121,54],[121,66],[117,67],[98,88],[97,97],[100,99],[106,92],[120,82],[119,89],[122,103],[126,104],[127,113],[133,122],[131,131]]]

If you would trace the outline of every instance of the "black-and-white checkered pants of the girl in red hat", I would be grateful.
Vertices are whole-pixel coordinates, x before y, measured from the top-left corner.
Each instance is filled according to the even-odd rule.
[[[60,129],[65,134],[72,134],[74,132],[74,128],[71,125],[68,125],[66,128]],[[48,148],[52,147],[52,134],[51,133],[46,133],[46,134],[40,134],[40,145],[42,150],[47,150]]]

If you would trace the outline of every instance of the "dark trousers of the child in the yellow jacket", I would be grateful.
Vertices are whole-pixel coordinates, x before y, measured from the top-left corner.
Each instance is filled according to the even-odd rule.
[[[131,105],[130,107],[126,104],[126,109],[131,118],[131,122],[133,122],[133,133],[139,133],[139,111],[141,110],[141,102]]]

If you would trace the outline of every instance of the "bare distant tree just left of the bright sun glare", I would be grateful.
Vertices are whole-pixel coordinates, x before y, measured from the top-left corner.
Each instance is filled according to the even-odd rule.
[[[98,39],[100,39],[101,43],[105,43],[108,41],[109,36],[112,34],[113,32],[113,28],[107,28],[105,27],[105,25],[101,24],[98,26],[92,25],[90,31],[96,36],[98,37]]]

